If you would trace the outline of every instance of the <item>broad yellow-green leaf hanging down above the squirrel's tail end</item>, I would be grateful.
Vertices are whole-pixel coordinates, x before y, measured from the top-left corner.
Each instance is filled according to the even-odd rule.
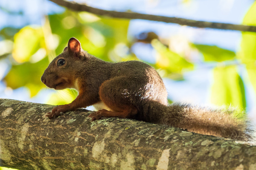
[[[213,70],[211,102],[215,105],[246,107],[244,84],[236,66],[217,67]]]

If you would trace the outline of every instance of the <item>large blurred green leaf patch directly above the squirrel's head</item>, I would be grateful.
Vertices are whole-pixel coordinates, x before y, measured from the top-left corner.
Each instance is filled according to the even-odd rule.
[[[66,10],[63,14],[49,16],[49,23],[53,34],[60,37],[56,54],[60,54],[67,46],[70,37],[76,37],[84,50],[105,61],[121,59],[115,54],[114,48],[119,43],[127,46],[127,32],[130,20],[112,19],[108,17],[92,18]],[[88,22],[87,22],[88,20]],[[72,24],[69,24],[72,23]]]

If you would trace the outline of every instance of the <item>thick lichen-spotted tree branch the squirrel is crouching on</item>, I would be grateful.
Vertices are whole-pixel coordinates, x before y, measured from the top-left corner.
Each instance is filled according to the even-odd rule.
[[[256,146],[90,111],[0,99],[0,166],[19,170],[256,169]]]

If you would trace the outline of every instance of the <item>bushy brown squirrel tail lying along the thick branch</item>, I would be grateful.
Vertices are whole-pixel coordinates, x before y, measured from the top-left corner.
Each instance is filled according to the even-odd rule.
[[[237,118],[230,110],[211,110],[180,103],[165,106],[154,101],[148,101],[142,109],[142,119],[146,122],[205,135],[245,141],[252,139],[249,123],[244,118]]]

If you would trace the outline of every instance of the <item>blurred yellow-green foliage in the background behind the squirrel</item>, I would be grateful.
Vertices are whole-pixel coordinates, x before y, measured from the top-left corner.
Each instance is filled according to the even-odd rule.
[[[156,51],[156,62],[151,65],[160,71],[161,76],[174,80],[183,80],[185,71],[195,69],[197,63],[193,59],[173,50],[169,47],[168,39],[163,40],[154,32],[141,34],[139,38],[128,37],[129,23],[129,20],[66,10],[61,14],[47,16],[43,26],[3,28],[0,30],[0,37],[6,48],[0,51],[0,59],[10,61],[10,70],[3,81],[12,89],[26,87],[30,90],[30,96],[35,96],[45,88],[40,77],[49,61],[63,51],[70,37],[76,37],[82,48],[90,54],[113,62],[137,59],[131,50],[136,42],[150,44]],[[256,3],[247,12],[243,23],[256,25]],[[235,62],[233,65],[227,65],[226,62],[239,61],[244,64],[250,82],[256,90],[255,47],[255,33],[242,33],[241,50],[237,54],[218,46],[189,42],[189,50],[202,56],[200,62],[216,63],[212,69],[213,104],[246,108],[244,83],[237,71],[238,64]],[[47,103],[69,103],[76,95],[77,92],[70,89],[58,91]]]

